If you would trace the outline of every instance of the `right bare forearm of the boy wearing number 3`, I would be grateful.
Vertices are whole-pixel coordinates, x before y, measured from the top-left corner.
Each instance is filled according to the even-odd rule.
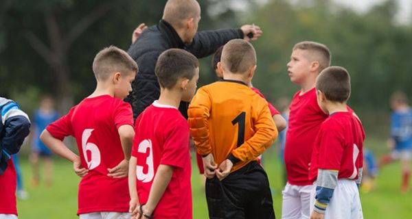
[[[172,179],[172,175],[172,166],[161,164],[159,165],[159,168],[157,168],[152,188],[150,188],[148,202],[146,203],[146,207],[148,207],[150,212],[155,211],[160,198],[163,196],[163,193],[170,183],[170,179]]]

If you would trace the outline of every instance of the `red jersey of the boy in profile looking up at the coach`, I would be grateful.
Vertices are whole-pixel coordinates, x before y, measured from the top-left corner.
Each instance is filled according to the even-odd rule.
[[[321,123],[328,118],[317,104],[316,89],[293,96],[290,103],[288,131],[284,160],[288,183],[292,185],[311,185],[309,181],[309,164],[314,140]]]

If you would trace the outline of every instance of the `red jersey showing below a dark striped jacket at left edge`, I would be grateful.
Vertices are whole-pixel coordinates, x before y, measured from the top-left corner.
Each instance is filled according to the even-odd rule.
[[[8,167],[0,175],[0,214],[15,214],[16,209],[16,170],[13,161],[8,161]]]

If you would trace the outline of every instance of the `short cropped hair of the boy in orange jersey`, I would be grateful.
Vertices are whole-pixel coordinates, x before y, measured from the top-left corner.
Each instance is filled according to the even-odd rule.
[[[256,64],[256,51],[246,40],[230,40],[223,47],[220,62],[222,68],[233,74],[246,73]]]

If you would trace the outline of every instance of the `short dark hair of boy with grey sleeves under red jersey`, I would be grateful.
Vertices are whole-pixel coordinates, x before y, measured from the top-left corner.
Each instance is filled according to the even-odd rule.
[[[343,103],[350,96],[350,75],[345,68],[330,66],[317,77],[316,88],[329,101]]]

